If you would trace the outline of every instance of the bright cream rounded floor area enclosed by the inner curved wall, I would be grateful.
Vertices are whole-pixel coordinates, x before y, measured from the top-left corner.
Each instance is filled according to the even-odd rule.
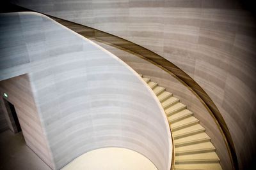
[[[125,148],[100,148],[84,153],[61,170],[157,170],[146,157]]]

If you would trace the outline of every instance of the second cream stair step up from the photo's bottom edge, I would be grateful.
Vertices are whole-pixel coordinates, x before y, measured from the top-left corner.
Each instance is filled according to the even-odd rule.
[[[218,162],[220,162],[220,159],[215,152],[180,155],[175,157],[175,164],[210,164]]]

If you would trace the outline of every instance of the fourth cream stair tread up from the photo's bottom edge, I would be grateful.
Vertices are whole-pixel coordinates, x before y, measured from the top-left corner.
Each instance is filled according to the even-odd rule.
[[[178,145],[178,144],[181,145],[184,143],[193,143],[193,142],[200,142],[200,141],[205,141],[205,140],[209,141],[210,139],[211,138],[205,132],[202,132],[199,134],[186,136],[184,138],[175,139],[174,143],[175,143],[175,145]]]

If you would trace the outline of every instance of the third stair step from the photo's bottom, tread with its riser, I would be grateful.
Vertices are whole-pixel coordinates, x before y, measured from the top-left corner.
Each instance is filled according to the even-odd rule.
[[[175,147],[175,155],[188,155],[195,153],[215,152],[211,142],[196,143],[193,145]]]

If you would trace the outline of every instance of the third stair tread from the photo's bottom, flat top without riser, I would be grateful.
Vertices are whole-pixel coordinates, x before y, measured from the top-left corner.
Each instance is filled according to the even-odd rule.
[[[201,150],[215,150],[211,142],[196,143],[193,145],[181,146],[175,148],[176,153],[189,152],[189,151],[201,151]]]

